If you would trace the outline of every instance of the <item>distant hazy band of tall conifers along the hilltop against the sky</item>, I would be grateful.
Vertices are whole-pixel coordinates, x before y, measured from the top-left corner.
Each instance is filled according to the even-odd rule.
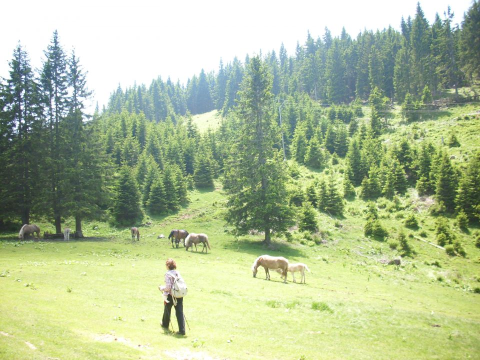
[[[277,97],[307,93],[324,104],[365,101],[377,87],[390,101],[402,103],[409,93],[420,98],[425,87],[433,96],[443,89],[457,89],[480,75],[480,9],[474,1],[460,26],[453,13],[426,20],[420,4],[411,18],[401,18],[400,31],[391,26],[381,31],[364,30],[352,38],[343,31],[332,37],[328,28],[316,39],[307,34],[295,53],[287,54],[283,44],[261,56],[273,76],[272,92]],[[456,14],[458,15],[458,14]],[[186,83],[154,79],[147,87],[120,87],[109,99],[107,111],[143,112],[148,120],[161,121],[172,113],[185,115],[212,109],[226,114],[238,99],[239,84],[248,65],[247,55],[217,71],[193,75]]]

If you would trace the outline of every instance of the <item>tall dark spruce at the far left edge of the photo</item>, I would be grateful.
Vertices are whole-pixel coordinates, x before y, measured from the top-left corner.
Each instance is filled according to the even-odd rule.
[[[0,174],[1,208],[3,216],[29,223],[35,199],[44,184],[39,165],[44,162],[41,151],[42,117],[38,84],[30,66],[27,52],[18,44],[9,62],[10,77],[3,96],[2,137],[0,150],[3,171]]]

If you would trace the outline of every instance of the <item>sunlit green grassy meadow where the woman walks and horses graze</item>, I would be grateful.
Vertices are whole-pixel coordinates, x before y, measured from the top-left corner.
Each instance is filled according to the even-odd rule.
[[[234,238],[222,220],[220,189],[193,191],[189,205],[140,226],[84,224],[84,239],[0,241],[2,359],[463,359],[480,355],[478,249],[467,256],[409,238],[416,254],[397,257],[362,235],[356,211],[319,217],[320,234]],[[405,196],[402,201],[408,201]],[[386,215],[387,210],[380,209]],[[386,216],[383,217],[386,219]],[[401,220],[391,219],[389,229]],[[42,225],[47,229],[47,224]],[[422,225],[428,227],[428,223]],[[205,232],[211,251],[172,248],[170,229]],[[427,229],[427,231],[429,231]],[[164,234],[164,238],[157,238]],[[468,235],[469,236],[469,235]],[[305,262],[306,283],[282,283],[253,260],[263,253]],[[186,336],[161,329],[164,261],[188,284]],[[299,279],[299,275],[296,276]],[[172,316],[173,328],[177,330]],[[171,326],[170,326],[171,330]]]

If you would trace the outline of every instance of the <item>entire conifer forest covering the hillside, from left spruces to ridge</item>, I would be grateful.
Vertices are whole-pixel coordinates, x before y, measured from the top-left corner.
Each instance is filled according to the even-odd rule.
[[[39,69],[20,42],[0,79],[0,227],[43,218],[61,233],[72,218],[81,237],[84,220],[139,224],[180,209],[192,188],[221,187],[232,233],[256,230],[270,243],[293,226],[317,230],[317,211],[341,217],[349,199],[371,205],[414,190],[434,201],[438,243],[461,253],[442,221],[480,219],[479,127],[459,160],[446,151],[465,140],[455,132],[433,141],[394,126],[480,108],[478,92],[463,91],[480,81],[480,3],[458,26],[451,19],[445,11],[428,23],[418,4],[400,30],[308,32],[291,54],[281,44],[219,59],[186,84],[157,77],[112,89],[93,114],[88,69],[60,33]],[[219,125],[200,131],[193,116],[213,110]],[[320,175],[300,183],[304,168]],[[387,236],[368,211],[365,235]]]

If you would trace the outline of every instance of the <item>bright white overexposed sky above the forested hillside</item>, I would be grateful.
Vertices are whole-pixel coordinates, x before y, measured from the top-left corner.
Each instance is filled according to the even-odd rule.
[[[18,41],[39,68],[53,31],[65,52],[75,48],[87,84],[100,109],[118,84],[125,89],[170,76],[186,84],[193,74],[217,71],[237,56],[263,54],[283,42],[288,55],[307,31],[316,39],[328,27],[332,36],[355,38],[364,28],[399,29],[401,16],[415,15],[417,0],[7,0],[2,1],[0,77]],[[422,0],[429,23],[450,5],[460,23],[471,0]]]

